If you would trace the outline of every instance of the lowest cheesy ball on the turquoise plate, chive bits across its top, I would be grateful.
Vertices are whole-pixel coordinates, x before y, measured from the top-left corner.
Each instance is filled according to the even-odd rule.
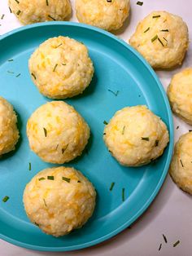
[[[94,212],[94,186],[69,167],[42,170],[24,189],[24,209],[32,223],[52,236],[82,227]]]

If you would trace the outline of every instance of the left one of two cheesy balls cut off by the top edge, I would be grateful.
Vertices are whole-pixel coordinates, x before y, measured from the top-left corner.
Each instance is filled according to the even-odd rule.
[[[8,3],[23,24],[65,20],[72,11],[69,0],[9,0]]]

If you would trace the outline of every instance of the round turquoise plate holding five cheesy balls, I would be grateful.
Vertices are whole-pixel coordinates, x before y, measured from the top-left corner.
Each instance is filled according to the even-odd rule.
[[[84,227],[68,236],[55,238],[29,222],[22,195],[33,175],[54,166],[41,161],[28,148],[25,133],[28,117],[50,100],[33,85],[28,73],[28,58],[41,42],[59,35],[84,42],[94,61],[95,74],[89,88],[82,95],[66,100],[85,117],[92,135],[82,156],[66,166],[81,170],[94,183],[98,197],[94,215]],[[21,137],[15,152],[0,161],[0,237],[29,249],[67,251],[115,236],[151,204],[164,182],[172,157],[172,113],[155,72],[128,44],[111,33],[85,24],[29,25],[2,36],[0,49],[0,95],[8,99],[18,113]],[[110,90],[115,93],[119,90],[119,94]],[[146,104],[163,119],[168,126],[170,143],[158,161],[137,169],[125,168],[111,157],[103,143],[103,121],[109,121],[118,109],[137,104]],[[29,162],[32,164],[30,171]],[[110,192],[112,182],[115,186]],[[124,202],[122,188],[125,188]],[[10,196],[7,203],[2,202],[4,196]]]

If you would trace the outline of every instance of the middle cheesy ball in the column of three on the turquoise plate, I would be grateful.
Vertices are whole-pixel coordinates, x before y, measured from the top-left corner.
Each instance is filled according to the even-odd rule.
[[[27,123],[29,146],[43,161],[63,164],[80,156],[89,139],[89,126],[63,101],[42,105]]]

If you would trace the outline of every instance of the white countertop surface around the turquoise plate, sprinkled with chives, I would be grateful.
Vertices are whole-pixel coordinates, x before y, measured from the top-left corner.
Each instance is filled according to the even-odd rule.
[[[117,36],[124,40],[129,39],[130,35],[136,28],[137,22],[142,20],[151,11],[169,11],[172,14],[181,15],[183,20],[188,24],[190,41],[192,35],[192,1],[191,0],[142,0],[143,6],[136,4],[137,0],[131,1],[131,15],[129,22],[126,22],[124,29],[116,33]],[[0,16],[5,14],[3,20],[0,20],[0,34],[7,33],[12,29],[20,27],[20,23],[16,20],[15,15],[11,14],[7,0],[0,0]],[[71,1],[74,7],[74,0]],[[75,13],[71,21],[76,21]],[[178,31],[179,33],[179,31]],[[181,68],[192,67],[192,46],[186,55],[185,62]],[[174,73],[181,68],[170,71],[158,72],[159,78],[164,85],[168,86],[170,79]],[[184,134],[191,126],[186,125],[177,117],[174,117],[175,139]],[[176,130],[176,127],[179,129]],[[94,247],[67,253],[43,253],[23,249],[15,245],[0,241],[1,256],[34,256],[34,255],[105,255],[105,256],[190,256],[192,253],[192,197],[182,192],[172,183],[168,176],[161,188],[159,195],[155,198],[150,208],[146,210],[142,217],[133,224],[131,229],[126,229],[111,240],[103,242]],[[191,204],[191,205],[190,205]],[[164,234],[168,243],[164,242]],[[173,248],[173,244],[181,241],[177,247]],[[159,245],[162,248],[159,251]]]

